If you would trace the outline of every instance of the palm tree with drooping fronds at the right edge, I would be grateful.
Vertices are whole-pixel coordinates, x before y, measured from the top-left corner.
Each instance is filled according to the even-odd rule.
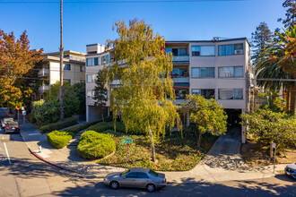
[[[279,41],[269,44],[260,55],[257,84],[267,90],[285,90],[286,111],[295,113],[296,26],[276,34]]]

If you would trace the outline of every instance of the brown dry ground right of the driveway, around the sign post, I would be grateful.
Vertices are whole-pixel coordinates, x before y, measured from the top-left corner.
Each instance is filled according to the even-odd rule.
[[[260,167],[274,164],[269,158],[269,144],[264,141],[248,140],[240,147],[242,158],[248,166]],[[289,164],[296,161],[296,149],[285,149],[276,152],[276,164]]]

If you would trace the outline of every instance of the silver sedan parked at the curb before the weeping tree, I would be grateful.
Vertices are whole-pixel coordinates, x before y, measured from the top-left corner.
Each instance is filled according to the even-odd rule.
[[[112,189],[119,187],[145,188],[152,193],[155,190],[165,187],[167,180],[164,174],[156,173],[144,167],[133,167],[123,173],[111,173],[104,179],[104,184]]]

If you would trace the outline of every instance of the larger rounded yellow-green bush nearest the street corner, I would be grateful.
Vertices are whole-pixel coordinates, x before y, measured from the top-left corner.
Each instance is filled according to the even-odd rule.
[[[87,131],[77,147],[78,155],[85,159],[104,158],[116,150],[115,141],[108,134]]]

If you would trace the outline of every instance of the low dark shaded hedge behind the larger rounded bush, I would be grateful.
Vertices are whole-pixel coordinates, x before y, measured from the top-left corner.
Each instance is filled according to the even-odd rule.
[[[114,130],[114,122],[101,122],[90,126],[87,131],[95,131],[98,133],[105,132],[107,130]],[[120,133],[126,132],[126,126],[122,122],[116,122],[116,131]]]

